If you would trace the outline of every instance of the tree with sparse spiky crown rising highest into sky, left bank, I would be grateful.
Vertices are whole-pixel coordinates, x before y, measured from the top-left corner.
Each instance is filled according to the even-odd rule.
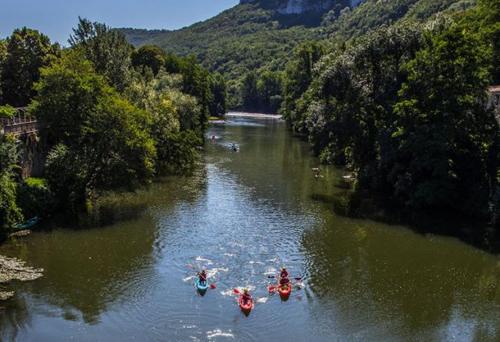
[[[80,17],[78,20],[69,43],[73,48],[83,51],[97,73],[104,75],[118,91],[123,91],[130,78],[133,47],[120,31]]]

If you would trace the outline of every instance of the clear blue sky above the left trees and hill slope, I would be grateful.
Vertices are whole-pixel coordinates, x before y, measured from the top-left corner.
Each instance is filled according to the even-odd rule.
[[[181,28],[208,19],[238,0],[0,0],[0,37],[27,26],[66,44],[78,16],[112,27]]]

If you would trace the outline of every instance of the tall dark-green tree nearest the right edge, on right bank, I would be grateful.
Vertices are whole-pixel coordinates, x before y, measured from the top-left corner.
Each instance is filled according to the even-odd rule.
[[[486,215],[488,160],[499,134],[486,110],[489,61],[475,35],[452,25],[408,63],[391,172],[395,196],[407,205]]]

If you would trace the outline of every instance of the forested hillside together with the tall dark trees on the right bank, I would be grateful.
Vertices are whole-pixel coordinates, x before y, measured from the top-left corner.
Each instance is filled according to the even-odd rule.
[[[273,6],[122,32],[226,75],[231,108],[283,114],[324,163],[353,172],[353,201],[367,191],[411,213],[498,215],[498,122],[486,106],[500,82],[498,0],[339,1],[320,17]]]

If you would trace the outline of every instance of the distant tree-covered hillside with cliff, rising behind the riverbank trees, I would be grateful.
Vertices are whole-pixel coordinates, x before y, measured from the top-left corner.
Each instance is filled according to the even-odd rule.
[[[301,42],[348,40],[401,20],[425,21],[474,0],[242,0],[219,15],[176,30],[121,29],[135,46],[195,55],[228,80],[234,100],[249,70],[281,71]],[[240,101],[233,101],[234,107]]]

